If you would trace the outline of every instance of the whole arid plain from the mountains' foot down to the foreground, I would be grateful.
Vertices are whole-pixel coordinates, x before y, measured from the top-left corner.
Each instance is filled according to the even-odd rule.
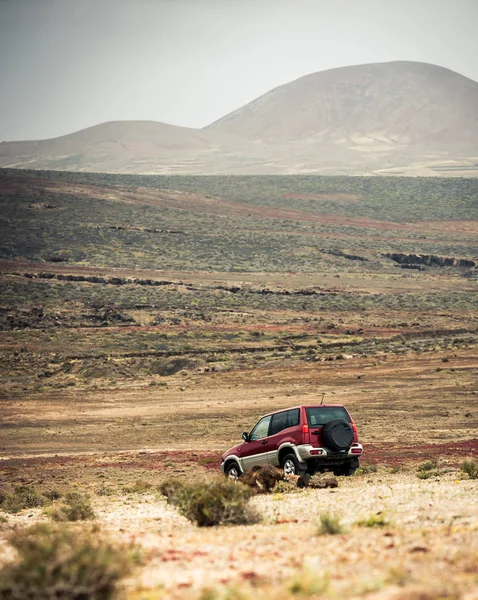
[[[131,598],[478,597],[476,180],[4,170],[0,200],[0,491],[89,495],[69,526],[142,548]],[[235,527],[166,503],[322,395],[364,444],[338,488]],[[5,563],[51,519],[0,514]]]

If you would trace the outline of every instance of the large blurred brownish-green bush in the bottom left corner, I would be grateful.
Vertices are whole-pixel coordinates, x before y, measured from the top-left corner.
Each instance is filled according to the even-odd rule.
[[[18,559],[0,571],[2,600],[109,600],[137,555],[115,548],[97,533],[36,525],[16,532],[10,543]]]

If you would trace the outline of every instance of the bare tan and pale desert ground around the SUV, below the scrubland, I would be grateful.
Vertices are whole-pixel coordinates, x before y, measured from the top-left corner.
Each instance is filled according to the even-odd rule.
[[[89,494],[102,534],[144,551],[124,582],[131,598],[474,598],[478,487],[460,465],[478,450],[477,359],[467,349],[291,361],[253,374],[180,372],[167,388],[3,402],[2,481]],[[319,391],[350,409],[365,448],[363,468],[338,488],[259,495],[260,524],[214,528],[158,492],[170,478],[215,476],[221,451],[258,416]],[[341,533],[316,534],[324,513]],[[360,524],[375,516],[379,525]],[[41,508],[5,515],[5,560],[8,536],[45,520]]]

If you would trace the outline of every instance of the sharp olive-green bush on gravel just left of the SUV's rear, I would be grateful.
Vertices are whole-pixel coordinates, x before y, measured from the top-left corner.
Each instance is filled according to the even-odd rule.
[[[169,481],[161,486],[168,503],[199,527],[247,525],[259,516],[249,506],[253,491],[226,478],[182,483]]]

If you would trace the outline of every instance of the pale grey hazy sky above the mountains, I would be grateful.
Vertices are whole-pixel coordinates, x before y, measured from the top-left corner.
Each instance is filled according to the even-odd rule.
[[[478,80],[478,0],[0,0],[0,141],[202,127],[302,75],[389,60]]]

